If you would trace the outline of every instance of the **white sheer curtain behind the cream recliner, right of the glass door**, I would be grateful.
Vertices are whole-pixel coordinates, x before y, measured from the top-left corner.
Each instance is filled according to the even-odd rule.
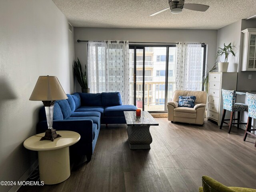
[[[176,89],[202,90],[201,44],[179,42],[176,48]]]

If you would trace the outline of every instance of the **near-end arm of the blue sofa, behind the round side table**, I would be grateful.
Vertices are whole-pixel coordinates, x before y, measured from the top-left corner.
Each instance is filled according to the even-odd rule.
[[[78,132],[81,136],[79,142],[92,143],[93,140],[93,122],[92,120],[54,120],[53,128],[64,131]],[[40,121],[37,124],[36,132],[42,133],[48,129],[47,121]]]

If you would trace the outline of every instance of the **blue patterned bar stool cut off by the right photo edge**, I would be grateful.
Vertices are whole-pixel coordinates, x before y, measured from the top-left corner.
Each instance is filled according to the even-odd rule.
[[[251,131],[256,131],[256,129],[252,128],[252,118],[256,119],[256,94],[246,93],[247,101],[248,101],[248,121],[246,126],[246,131],[244,133],[244,141],[248,134],[256,137],[256,134],[253,134]],[[256,142],[255,142],[256,147]]]

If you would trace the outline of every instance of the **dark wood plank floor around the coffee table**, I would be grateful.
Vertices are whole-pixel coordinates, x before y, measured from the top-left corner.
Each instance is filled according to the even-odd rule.
[[[92,160],[56,185],[22,186],[19,192],[197,192],[208,175],[227,186],[256,188],[255,138],[156,118],[150,150],[130,150],[126,125],[101,126]]]

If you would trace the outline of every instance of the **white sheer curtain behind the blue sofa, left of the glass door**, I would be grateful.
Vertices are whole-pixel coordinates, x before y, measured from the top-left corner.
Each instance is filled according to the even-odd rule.
[[[120,92],[129,104],[129,42],[88,42],[89,86],[91,93]]]

